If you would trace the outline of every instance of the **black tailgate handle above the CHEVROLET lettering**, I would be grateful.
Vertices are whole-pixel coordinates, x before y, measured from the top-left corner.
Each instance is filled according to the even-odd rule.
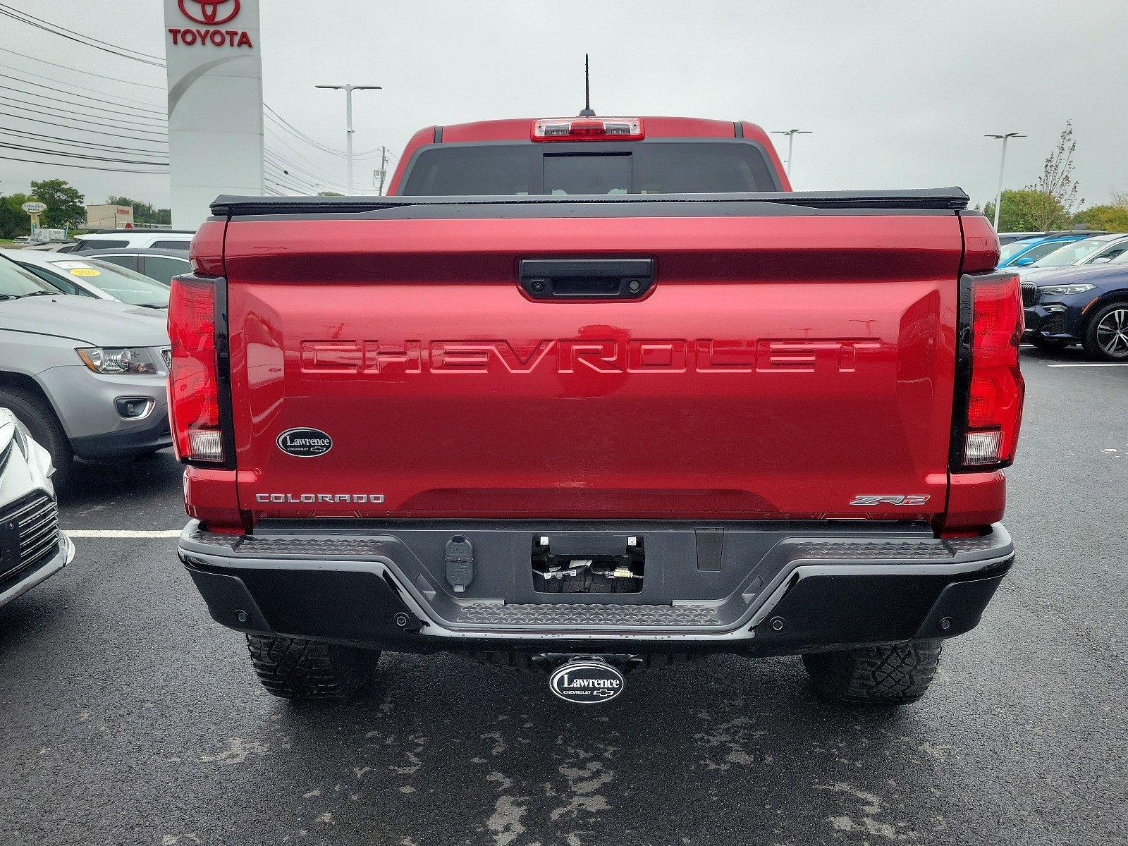
[[[535,300],[637,300],[654,284],[652,258],[523,258],[519,270]]]

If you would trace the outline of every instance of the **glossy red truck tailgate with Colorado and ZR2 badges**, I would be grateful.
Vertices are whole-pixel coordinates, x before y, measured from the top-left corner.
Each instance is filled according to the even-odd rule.
[[[943,210],[235,217],[239,505],[927,518],[948,490],[962,246]],[[651,259],[654,283],[519,285],[522,259],[569,257]],[[284,451],[303,429],[332,447]]]

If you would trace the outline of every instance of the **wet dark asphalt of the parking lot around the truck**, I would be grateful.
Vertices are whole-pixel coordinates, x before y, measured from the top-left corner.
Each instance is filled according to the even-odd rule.
[[[1024,350],[1019,562],[918,705],[816,703],[797,659],[544,677],[387,654],[275,699],[171,537],[78,537],[0,609],[0,844],[1128,843],[1128,367]],[[79,468],[79,530],[184,522],[171,456]]]

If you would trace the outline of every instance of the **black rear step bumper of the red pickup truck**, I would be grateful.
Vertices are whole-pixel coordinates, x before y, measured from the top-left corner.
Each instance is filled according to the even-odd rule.
[[[536,593],[528,571],[532,537],[578,528],[642,536],[643,590]],[[452,530],[481,550],[481,575],[458,594],[437,552]],[[212,617],[248,633],[405,652],[756,654],[962,634],[979,623],[1014,561],[999,525],[959,540],[904,525],[710,529],[717,530],[723,554],[706,556],[704,569],[702,530],[673,521],[614,528],[462,522],[457,529],[405,522],[332,532],[307,525],[247,537],[209,534],[193,521],[179,556]]]

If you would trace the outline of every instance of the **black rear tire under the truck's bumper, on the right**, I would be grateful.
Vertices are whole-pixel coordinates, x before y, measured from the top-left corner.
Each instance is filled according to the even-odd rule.
[[[816,695],[836,705],[907,705],[928,689],[940,641],[803,655]]]

